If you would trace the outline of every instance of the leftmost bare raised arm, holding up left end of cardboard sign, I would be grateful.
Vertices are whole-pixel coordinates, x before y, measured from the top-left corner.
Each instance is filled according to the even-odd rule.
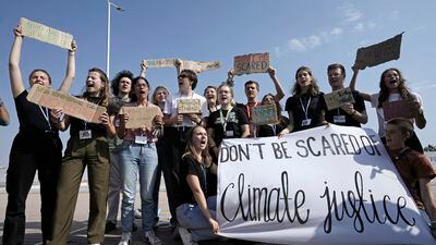
[[[16,26],[13,33],[15,38],[9,56],[9,77],[11,81],[12,96],[16,98],[25,89],[20,70],[21,46],[24,38],[21,25]]]

